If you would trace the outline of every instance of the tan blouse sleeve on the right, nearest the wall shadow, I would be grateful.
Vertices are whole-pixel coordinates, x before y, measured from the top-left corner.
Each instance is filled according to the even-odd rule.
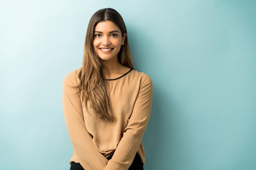
[[[132,114],[112,159],[103,170],[128,170],[141,144],[152,106],[153,84],[147,75],[139,87]]]

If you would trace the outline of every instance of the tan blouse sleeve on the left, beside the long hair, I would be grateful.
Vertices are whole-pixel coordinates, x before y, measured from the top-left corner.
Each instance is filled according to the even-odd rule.
[[[69,73],[63,81],[63,113],[67,131],[81,166],[86,170],[102,170],[108,159],[95,148],[86,129],[78,89],[70,87],[76,86],[77,80],[78,77]]]

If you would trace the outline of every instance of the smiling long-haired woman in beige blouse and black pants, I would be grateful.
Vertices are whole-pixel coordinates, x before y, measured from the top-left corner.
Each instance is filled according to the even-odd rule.
[[[88,24],[83,67],[63,81],[63,112],[74,147],[70,170],[143,170],[142,137],[153,85],[133,69],[126,26],[111,8]]]

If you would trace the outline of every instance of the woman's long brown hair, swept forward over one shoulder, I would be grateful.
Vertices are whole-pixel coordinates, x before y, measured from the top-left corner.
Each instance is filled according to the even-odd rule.
[[[88,24],[85,36],[84,50],[83,50],[83,67],[79,72],[80,83],[78,86],[81,92],[82,102],[85,102],[87,109],[88,102],[90,107],[94,110],[97,116],[106,120],[114,121],[112,115],[112,108],[110,102],[110,90],[108,81],[103,74],[104,66],[101,64],[100,58],[94,52],[93,39],[95,26],[102,21],[112,21],[121,30],[121,35],[127,34],[126,26],[121,15],[112,8],[105,8],[96,11]],[[128,44],[128,37],[124,41],[124,45],[118,53],[118,61],[133,69],[132,56]]]

